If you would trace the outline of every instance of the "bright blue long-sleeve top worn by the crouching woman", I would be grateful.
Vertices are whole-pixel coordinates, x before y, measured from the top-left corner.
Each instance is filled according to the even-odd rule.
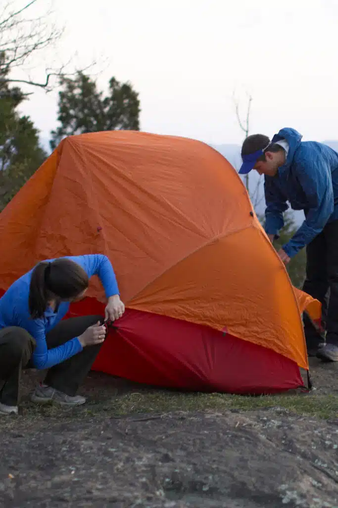
[[[118,295],[119,288],[110,261],[106,256],[93,254],[69,257],[80,265],[88,277],[98,275],[105,295]],[[48,260],[53,261],[53,260]],[[36,341],[32,362],[37,369],[48,369],[82,351],[78,337],[48,350],[46,334],[59,323],[68,311],[69,303],[61,302],[57,312],[46,309],[41,319],[32,319],[29,313],[28,297],[32,270],[16,280],[0,299],[0,329],[9,326],[24,328]]]

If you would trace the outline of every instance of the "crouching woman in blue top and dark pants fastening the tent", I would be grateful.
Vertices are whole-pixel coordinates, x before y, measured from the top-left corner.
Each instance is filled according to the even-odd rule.
[[[33,402],[86,402],[77,394],[105,338],[103,317],[61,322],[69,304],[84,297],[93,275],[100,278],[105,320],[119,319],[125,307],[110,261],[87,255],[44,261],[16,280],[0,299],[0,413],[17,414],[22,368],[48,369]]]

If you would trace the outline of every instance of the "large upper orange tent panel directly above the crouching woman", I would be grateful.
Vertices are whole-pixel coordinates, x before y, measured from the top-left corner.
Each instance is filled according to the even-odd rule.
[[[123,131],[73,136],[35,251],[40,259],[105,253],[128,302],[201,244],[251,223],[250,210],[237,173],[203,143]]]

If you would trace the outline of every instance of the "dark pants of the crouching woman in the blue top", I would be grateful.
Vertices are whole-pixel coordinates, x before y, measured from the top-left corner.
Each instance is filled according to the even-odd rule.
[[[81,335],[89,326],[102,321],[101,316],[81,316],[61,321],[46,336],[48,349]],[[32,368],[30,357],[35,341],[26,330],[9,327],[0,330],[0,402],[15,406],[19,400],[22,368]],[[73,396],[91,369],[101,344],[87,346],[77,355],[51,367],[44,383]]]

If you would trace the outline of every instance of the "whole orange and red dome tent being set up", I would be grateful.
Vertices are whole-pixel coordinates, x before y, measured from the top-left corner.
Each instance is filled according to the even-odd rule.
[[[64,139],[0,215],[0,289],[43,259],[104,253],[127,312],[95,368],[139,382],[268,393],[308,368],[296,292],[235,169],[139,132]],[[72,313],[102,308],[95,281]]]

